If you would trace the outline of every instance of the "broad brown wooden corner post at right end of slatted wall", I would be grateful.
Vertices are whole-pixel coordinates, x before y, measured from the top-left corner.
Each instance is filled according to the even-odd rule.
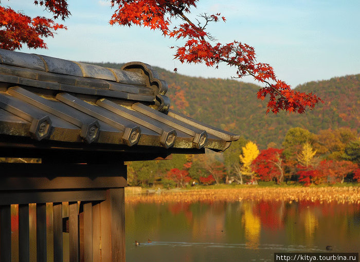
[[[124,188],[106,190],[101,202],[101,261],[125,261]]]

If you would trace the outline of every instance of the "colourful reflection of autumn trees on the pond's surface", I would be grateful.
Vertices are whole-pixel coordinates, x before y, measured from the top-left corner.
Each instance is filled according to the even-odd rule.
[[[360,205],[312,201],[127,204],[127,238],[324,248],[350,252],[360,237]],[[129,230],[130,229],[130,230]]]

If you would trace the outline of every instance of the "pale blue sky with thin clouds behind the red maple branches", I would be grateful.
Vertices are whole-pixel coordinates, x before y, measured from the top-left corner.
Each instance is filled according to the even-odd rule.
[[[1,4],[34,16],[51,17],[29,0],[2,0]],[[179,74],[230,78],[233,68],[181,64],[173,60],[181,45],[148,28],[110,26],[109,1],[69,0],[71,16],[47,39],[48,49],[30,50],[75,61],[142,61]],[[254,46],[258,62],[271,64],[277,76],[295,87],[313,80],[360,73],[360,1],[319,0],[201,0],[194,14],[221,12],[226,23],[211,24],[208,31],[221,43],[238,40]],[[252,82],[250,78],[243,81]]]

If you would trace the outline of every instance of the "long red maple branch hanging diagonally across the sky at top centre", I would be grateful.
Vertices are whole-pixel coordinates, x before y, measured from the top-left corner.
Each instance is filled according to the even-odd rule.
[[[253,47],[233,41],[228,44],[215,43],[215,38],[207,32],[210,22],[223,20],[224,16],[217,14],[201,14],[204,22],[193,23],[187,16],[191,7],[196,7],[197,0],[112,0],[116,11],[110,24],[138,25],[159,29],[164,36],[176,39],[186,39],[184,46],[178,46],[175,58],[182,63],[205,63],[215,66],[221,62],[236,68],[236,77],[253,76],[265,84],[258,91],[258,98],[265,99],[269,96],[267,112],[279,110],[303,113],[307,107],[313,109],[321,101],[312,93],[305,94],[293,91],[290,85],[277,79],[269,64],[256,63],[256,54]],[[179,18],[183,21],[179,26],[171,27],[172,19]]]

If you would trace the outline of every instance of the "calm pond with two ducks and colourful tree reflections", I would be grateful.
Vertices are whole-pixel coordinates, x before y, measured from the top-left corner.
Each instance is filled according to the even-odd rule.
[[[127,203],[125,223],[127,262],[274,261],[274,252],[327,246],[360,252],[358,204]]]

